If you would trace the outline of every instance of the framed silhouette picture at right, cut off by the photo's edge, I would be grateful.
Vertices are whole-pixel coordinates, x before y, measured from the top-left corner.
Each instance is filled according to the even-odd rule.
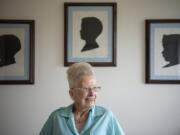
[[[180,83],[180,19],[146,20],[146,83]]]

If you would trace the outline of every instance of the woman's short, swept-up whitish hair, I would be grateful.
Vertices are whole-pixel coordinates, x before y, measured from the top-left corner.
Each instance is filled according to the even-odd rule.
[[[79,78],[84,75],[94,75],[93,68],[89,63],[80,62],[72,64],[67,70],[69,88],[73,88]]]

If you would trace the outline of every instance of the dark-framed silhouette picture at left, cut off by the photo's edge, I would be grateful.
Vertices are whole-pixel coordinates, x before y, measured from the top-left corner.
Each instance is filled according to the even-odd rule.
[[[0,20],[0,84],[34,84],[34,40],[34,20]]]

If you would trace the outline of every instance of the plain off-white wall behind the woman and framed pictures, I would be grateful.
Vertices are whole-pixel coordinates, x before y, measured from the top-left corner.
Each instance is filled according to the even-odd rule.
[[[0,135],[37,135],[54,109],[71,103],[63,2],[0,0],[0,19],[36,21],[35,85],[0,85]],[[144,83],[144,20],[180,18],[180,0],[116,2],[118,66],[95,68],[103,87],[97,104],[113,110],[127,135],[180,135],[180,86]]]

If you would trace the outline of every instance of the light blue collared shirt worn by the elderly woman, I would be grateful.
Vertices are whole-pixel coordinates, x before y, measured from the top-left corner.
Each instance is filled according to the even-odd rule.
[[[39,135],[125,135],[112,111],[93,106],[82,131],[76,129],[73,105],[54,111]]]

